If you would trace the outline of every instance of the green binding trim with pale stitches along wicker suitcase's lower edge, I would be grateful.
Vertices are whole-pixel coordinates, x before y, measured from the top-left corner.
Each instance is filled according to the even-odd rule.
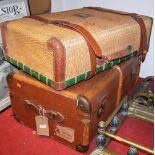
[[[114,65],[120,64],[123,61],[127,61],[127,60],[131,59],[132,57],[136,57],[137,54],[138,54],[138,52],[134,51],[133,53],[131,53],[130,55],[128,55],[126,57],[115,59],[115,60],[112,60],[106,64],[98,66],[96,68],[96,73],[100,73],[106,69],[113,67]],[[6,56],[5,59],[6,59],[6,61],[10,62],[11,64],[21,68],[24,72],[30,74],[32,77],[34,77],[34,78],[38,79],[39,81],[54,88],[53,81],[51,79],[48,79],[45,75],[38,73],[34,69],[31,69],[28,66],[25,66],[23,63],[18,62],[17,60],[10,58],[9,56]],[[81,82],[85,79],[88,79],[91,76],[92,76],[91,71],[88,71],[87,73],[83,73],[81,75],[78,75],[77,77],[67,80],[67,81],[65,81],[65,88],[73,86],[74,84]]]

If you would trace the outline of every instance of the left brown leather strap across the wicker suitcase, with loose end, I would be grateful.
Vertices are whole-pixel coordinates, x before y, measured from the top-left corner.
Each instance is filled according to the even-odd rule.
[[[50,20],[44,19],[39,16],[30,16],[30,18],[38,20],[46,24],[53,24],[53,25],[60,26],[63,28],[71,29],[81,34],[86,40],[88,48],[89,48],[92,75],[95,75],[96,73],[96,57],[103,57],[105,62],[107,61],[107,58],[102,56],[101,48],[99,47],[96,40],[93,38],[91,33],[87,31],[85,28],[83,28],[82,26],[73,24],[67,21],[62,21],[62,20],[50,21]]]

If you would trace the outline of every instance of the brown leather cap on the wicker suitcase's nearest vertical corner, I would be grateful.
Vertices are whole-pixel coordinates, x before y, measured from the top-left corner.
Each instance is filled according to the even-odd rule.
[[[58,38],[52,37],[47,41],[47,46],[49,50],[53,51],[54,55],[54,81],[56,83],[65,81],[66,51],[63,43]]]

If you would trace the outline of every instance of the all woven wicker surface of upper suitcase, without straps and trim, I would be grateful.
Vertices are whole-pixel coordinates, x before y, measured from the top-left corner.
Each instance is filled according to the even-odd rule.
[[[85,27],[98,42],[103,55],[120,51],[128,45],[132,46],[132,51],[138,50],[140,46],[139,25],[129,16],[86,8],[40,16]],[[151,20],[145,16],[143,19],[149,40]],[[47,48],[47,40],[51,37],[60,39],[66,49],[65,80],[91,70],[88,47],[80,34],[33,19],[25,18],[8,24],[8,55],[53,80],[53,51]]]

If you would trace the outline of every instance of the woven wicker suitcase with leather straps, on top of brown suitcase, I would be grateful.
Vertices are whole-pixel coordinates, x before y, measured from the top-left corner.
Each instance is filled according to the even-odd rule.
[[[144,60],[151,25],[147,16],[89,7],[4,23],[2,38],[7,61],[62,90],[135,55]]]

